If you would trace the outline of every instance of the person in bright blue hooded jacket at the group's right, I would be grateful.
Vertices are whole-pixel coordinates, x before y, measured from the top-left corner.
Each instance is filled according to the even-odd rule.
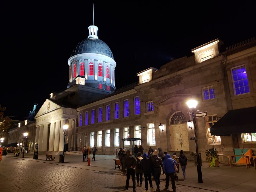
[[[167,153],[164,158],[164,170],[166,176],[166,185],[164,187],[166,189],[169,188],[169,179],[171,178],[173,192],[176,192],[176,186],[174,181],[174,174],[176,171],[174,169],[174,163],[176,165],[178,164],[174,159],[171,158],[171,155],[169,153]]]

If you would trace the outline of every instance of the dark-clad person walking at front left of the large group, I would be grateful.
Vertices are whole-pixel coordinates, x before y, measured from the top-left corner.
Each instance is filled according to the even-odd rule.
[[[125,189],[128,190],[129,181],[130,181],[130,177],[131,177],[133,192],[136,192],[136,189],[135,189],[135,170],[134,170],[134,168],[136,166],[136,163],[137,163],[136,158],[131,154],[131,151],[128,149],[126,151],[126,157],[125,157],[125,162],[124,162],[124,170],[126,168]]]

